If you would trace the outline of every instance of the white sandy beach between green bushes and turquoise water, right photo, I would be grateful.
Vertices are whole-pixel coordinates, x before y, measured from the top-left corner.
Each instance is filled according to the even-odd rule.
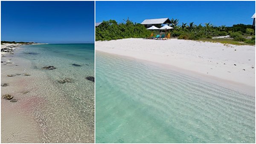
[[[167,64],[255,89],[255,46],[194,40],[128,38],[96,41],[96,51]]]

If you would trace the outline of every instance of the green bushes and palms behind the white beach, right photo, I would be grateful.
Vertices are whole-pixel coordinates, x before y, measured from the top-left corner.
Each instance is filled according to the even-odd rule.
[[[179,20],[171,19],[169,24],[174,29],[168,32],[172,37],[185,40],[215,41],[238,45],[255,45],[255,31],[252,25],[235,24],[233,26],[214,26],[212,23],[195,25],[191,23],[181,23]],[[160,25],[158,26],[160,27]],[[154,33],[159,31],[154,31]],[[103,21],[96,27],[96,41],[117,40],[122,38],[145,38],[151,34],[145,26],[133,23],[131,20],[124,20],[117,23],[115,20]],[[212,37],[227,36],[229,38],[212,39]]]

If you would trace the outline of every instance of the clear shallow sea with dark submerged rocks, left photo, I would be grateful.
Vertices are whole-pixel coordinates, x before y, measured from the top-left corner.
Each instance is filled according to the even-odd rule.
[[[94,77],[94,44],[27,45],[15,57],[31,62],[24,68],[31,76],[25,76],[29,92],[22,95],[28,103],[23,111],[32,112],[41,142],[93,143],[94,83],[86,77]],[[41,69],[44,66],[56,69]],[[72,82],[58,82],[65,78]]]

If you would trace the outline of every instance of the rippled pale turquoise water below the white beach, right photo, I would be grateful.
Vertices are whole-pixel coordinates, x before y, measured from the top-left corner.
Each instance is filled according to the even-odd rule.
[[[96,52],[96,143],[254,142],[254,95]]]

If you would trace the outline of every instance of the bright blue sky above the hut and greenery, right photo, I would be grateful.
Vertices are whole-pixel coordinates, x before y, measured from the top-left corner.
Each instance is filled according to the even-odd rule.
[[[183,23],[211,22],[214,26],[252,24],[255,1],[96,1],[96,22],[123,19],[141,23],[144,19],[169,17]]]

